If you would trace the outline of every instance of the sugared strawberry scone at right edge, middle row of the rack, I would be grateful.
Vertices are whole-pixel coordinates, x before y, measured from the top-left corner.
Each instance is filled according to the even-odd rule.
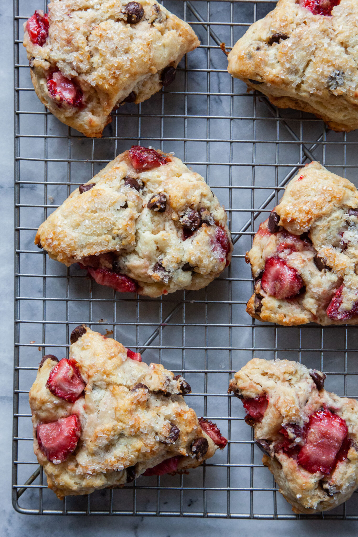
[[[358,324],[358,191],[311,162],[260,224],[246,262],[255,279],[246,311],[287,326]]]

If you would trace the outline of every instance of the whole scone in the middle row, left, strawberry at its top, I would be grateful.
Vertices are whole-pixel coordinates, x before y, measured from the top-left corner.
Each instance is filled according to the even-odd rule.
[[[227,214],[199,173],[141,146],[72,192],[35,244],[98,284],[153,297],[208,285],[232,251]]]

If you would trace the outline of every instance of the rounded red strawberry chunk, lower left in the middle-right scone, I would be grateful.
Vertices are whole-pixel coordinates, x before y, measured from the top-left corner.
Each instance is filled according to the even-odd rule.
[[[291,269],[280,257],[266,259],[261,287],[276,299],[287,299],[299,293],[303,280],[295,269]]]

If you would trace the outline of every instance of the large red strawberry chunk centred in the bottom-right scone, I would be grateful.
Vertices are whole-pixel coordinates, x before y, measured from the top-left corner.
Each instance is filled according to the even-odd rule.
[[[297,463],[311,474],[330,474],[347,433],[345,420],[337,414],[327,409],[311,414],[306,443],[297,455]]]

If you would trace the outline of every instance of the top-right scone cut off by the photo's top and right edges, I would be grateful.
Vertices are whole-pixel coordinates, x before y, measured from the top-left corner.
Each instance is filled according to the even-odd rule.
[[[280,0],[231,50],[228,71],[280,108],[358,127],[356,0]]]

